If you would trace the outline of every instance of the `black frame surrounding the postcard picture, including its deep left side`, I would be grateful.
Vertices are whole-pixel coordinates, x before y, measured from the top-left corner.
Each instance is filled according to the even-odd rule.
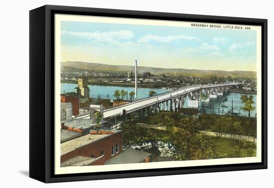
[[[262,26],[262,162],[54,175],[54,14]],[[29,176],[44,183],[267,168],[267,19],[44,5],[29,12]]]

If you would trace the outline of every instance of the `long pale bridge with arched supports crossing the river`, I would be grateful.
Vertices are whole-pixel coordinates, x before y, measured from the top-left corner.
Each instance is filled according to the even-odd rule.
[[[112,118],[118,115],[122,115],[123,110],[126,110],[126,114],[137,111],[137,110],[143,110],[143,109],[146,111],[147,107],[150,107],[152,111],[159,110],[160,107],[162,107],[162,109],[167,108],[169,110],[175,111],[175,109],[178,109],[179,107],[183,106],[186,97],[188,97],[190,101],[193,101],[191,102],[192,106],[189,106],[189,107],[198,107],[200,94],[206,94],[209,97],[216,98],[217,95],[219,94],[222,95],[223,92],[227,92],[232,86],[237,86],[237,85],[240,85],[240,84],[230,83],[230,84],[188,86],[172,92],[159,94],[159,95],[148,97],[148,98],[143,98],[131,103],[105,109],[104,118]],[[77,117],[77,119],[80,119],[80,118],[85,118],[85,119],[90,118],[90,114],[85,114]]]

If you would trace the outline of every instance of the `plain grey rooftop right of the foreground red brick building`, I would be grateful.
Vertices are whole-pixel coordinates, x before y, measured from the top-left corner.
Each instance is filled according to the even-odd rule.
[[[133,148],[126,149],[122,153],[105,162],[105,165],[142,163],[151,153],[139,151]]]

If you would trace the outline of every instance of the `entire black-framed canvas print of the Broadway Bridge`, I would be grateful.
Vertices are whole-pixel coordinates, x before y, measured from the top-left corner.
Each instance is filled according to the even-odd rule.
[[[30,10],[29,176],[267,168],[267,20]]]

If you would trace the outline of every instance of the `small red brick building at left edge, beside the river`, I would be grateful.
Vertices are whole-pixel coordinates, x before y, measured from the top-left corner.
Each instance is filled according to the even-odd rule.
[[[61,94],[61,102],[71,102],[72,104],[72,115],[78,115],[80,109],[80,95],[75,92]]]

